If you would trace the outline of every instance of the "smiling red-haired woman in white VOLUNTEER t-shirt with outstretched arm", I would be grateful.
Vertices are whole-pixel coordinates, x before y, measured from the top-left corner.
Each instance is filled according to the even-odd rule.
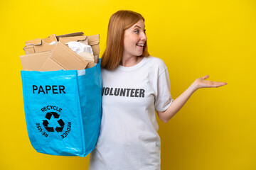
[[[163,60],[149,55],[144,18],[133,11],[110,17],[102,55],[102,122],[90,170],[160,169],[157,112],[167,123],[194,91],[224,82],[196,79],[175,100]]]

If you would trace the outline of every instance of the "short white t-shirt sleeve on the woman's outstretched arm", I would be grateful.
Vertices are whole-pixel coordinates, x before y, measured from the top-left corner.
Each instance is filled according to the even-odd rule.
[[[174,99],[171,98],[171,85],[167,68],[164,69],[164,72],[159,74],[156,89],[155,109],[156,111],[166,111],[171,105],[171,102],[174,101]]]

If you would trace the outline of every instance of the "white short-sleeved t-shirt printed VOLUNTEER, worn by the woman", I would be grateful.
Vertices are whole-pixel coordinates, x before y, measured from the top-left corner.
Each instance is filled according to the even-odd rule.
[[[89,169],[160,169],[155,110],[165,111],[173,100],[168,70],[159,58],[102,69],[102,122]]]

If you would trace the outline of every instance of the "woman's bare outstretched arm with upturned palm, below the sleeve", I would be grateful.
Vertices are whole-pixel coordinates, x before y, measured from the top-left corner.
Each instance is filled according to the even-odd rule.
[[[209,76],[206,75],[204,77],[200,77],[196,79],[191,86],[186,89],[178,98],[176,98],[174,101],[172,101],[169,108],[166,109],[166,111],[159,112],[157,111],[157,114],[159,115],[159,119],[162,120],[164,123],[167,123],[178,111],[184,106],[186,101],[188,101],[188,98],[191,97],[191,95],[197,90],[201,88],[208,88],[208,87],[219,87],[224,86],[227,83],[220,82],[220,81],[206,81],[205,79],[208,79]]]

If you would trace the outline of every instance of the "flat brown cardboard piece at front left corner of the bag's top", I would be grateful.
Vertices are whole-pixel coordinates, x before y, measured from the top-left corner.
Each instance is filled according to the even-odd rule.
[[[21,55],[21,64],[23,70],[26,71],[40,71],[43,63],[46,62],[48,57],[50,57],[51,51],[39,52],[31,55]]]

